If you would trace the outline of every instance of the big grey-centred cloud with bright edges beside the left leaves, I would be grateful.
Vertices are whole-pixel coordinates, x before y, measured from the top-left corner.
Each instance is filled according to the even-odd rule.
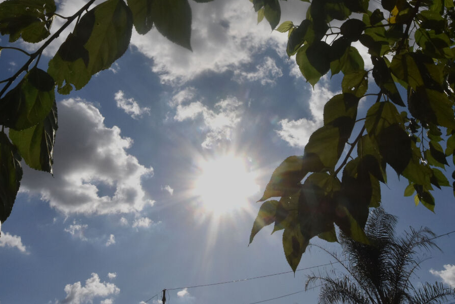
[[[100,111],[82,99],[63,100],[58,109],[54,176],[25,166],[20,191],[39,195],[66,215],[138,212],[153,205],[142,187],[153,168],[126,152],[132,140],[105,126]],[[100,194],[100,185],[114,193]]]

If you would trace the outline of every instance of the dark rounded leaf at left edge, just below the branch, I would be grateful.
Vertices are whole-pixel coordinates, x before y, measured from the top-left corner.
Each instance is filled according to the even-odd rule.
[[[24,79],[0,99],[0,124],[24,130],[44,119],[55,101],[52,77],[33,68]]]

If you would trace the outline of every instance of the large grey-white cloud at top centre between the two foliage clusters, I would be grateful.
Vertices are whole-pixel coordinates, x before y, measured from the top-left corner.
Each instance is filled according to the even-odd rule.
[[[204,71],[244,71],[253,56],[266,47],[284,53],[287,35],[270,32],[267,22],[257,24],[252,5],[243,0],[214,1],[192,6],[191,44],[184,49],[153,28],[145,36],[133,32],[131,44],[153,58],[152,71],[163,83],[185,82]]]

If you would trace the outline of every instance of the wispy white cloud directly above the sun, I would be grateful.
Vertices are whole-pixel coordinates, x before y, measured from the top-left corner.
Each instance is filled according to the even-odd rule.
[[[242,117],[243,108],[241,106],[242,102],[233,96],[215,103],[214,110],[209,109],[201,101],[180,103],[176,106],[174,119],[177,121],[194,120],[201,116],[204,123],[202,129],[207,132],[201,145],[210,149],[221,140],[231,140],[232,131]]]

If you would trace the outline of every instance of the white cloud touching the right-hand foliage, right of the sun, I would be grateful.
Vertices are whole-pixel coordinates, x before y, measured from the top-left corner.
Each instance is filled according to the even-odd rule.
[[[329,89],[329,83],[316,84],[311,91],[309,110],[311,118],[297,120],[283,119],[279,122],[278,135],[292,147],[303,148],[308,143],[311,134],[324,124],[324,105],[335,94]]]

